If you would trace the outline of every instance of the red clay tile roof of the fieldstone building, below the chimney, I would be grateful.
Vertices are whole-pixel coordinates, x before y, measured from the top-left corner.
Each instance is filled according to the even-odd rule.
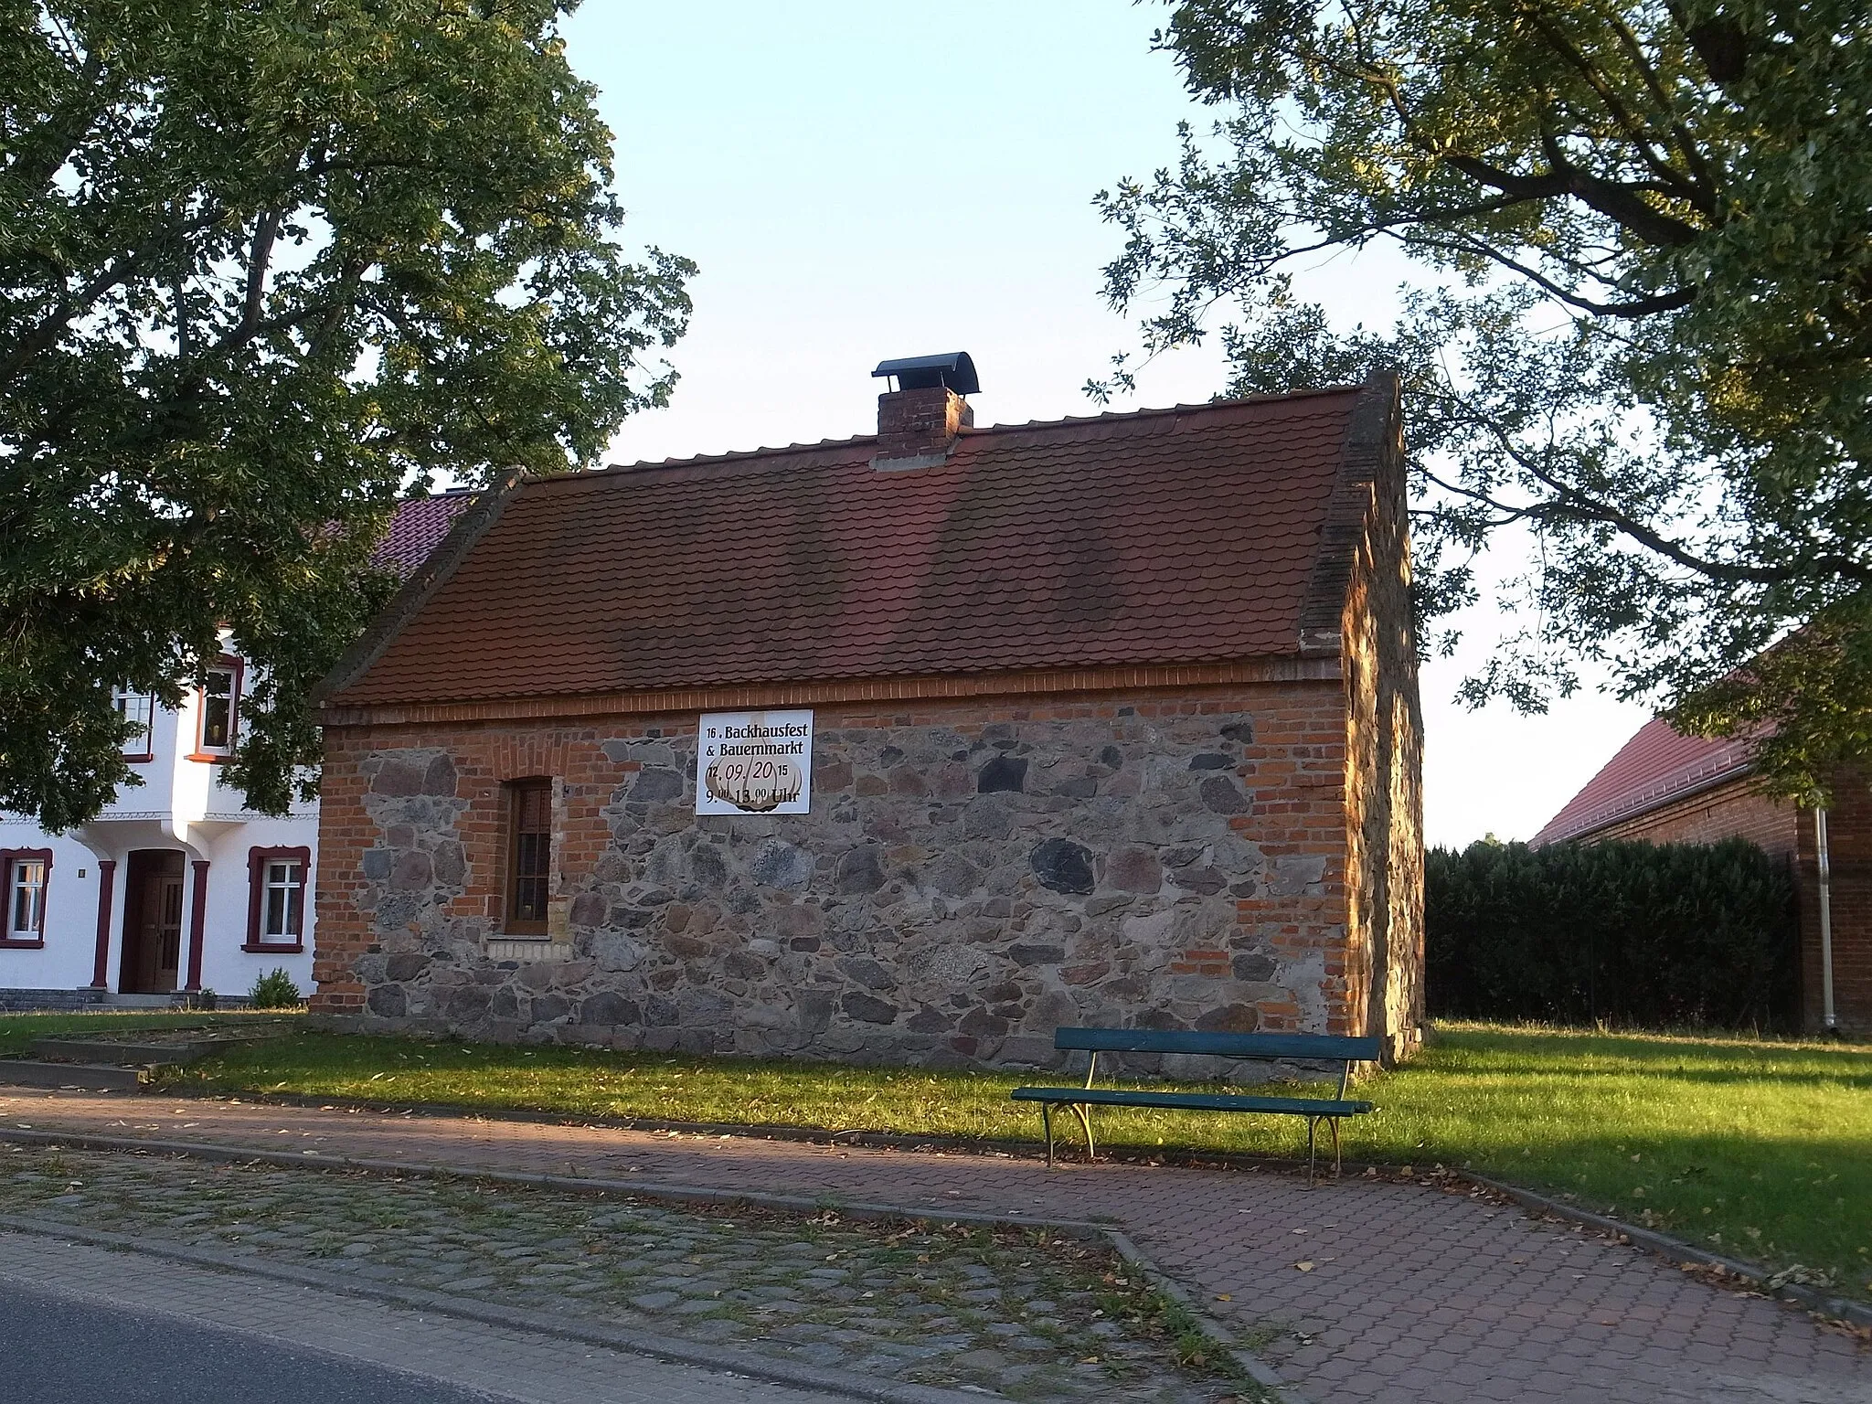
[[[1299,651],[1357,389],[524,481],[339,706]],[[414,601],[412,601],[414,603]]]

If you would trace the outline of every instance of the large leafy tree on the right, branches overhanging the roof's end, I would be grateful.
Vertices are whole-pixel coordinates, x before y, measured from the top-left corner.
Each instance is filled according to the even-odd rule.
[[[1151,352],[1219,333],[1236,391],[1404,371],[1425,612],[1531,534],[1471,698],[1595,659],[1681,724],[1773,724],[1786,792],[1863,758],[1872,9],[1183,0],[1157,37],[1221,120],[1101,195],[1106,292]],[[1295,296],[1378,241],[1421,270],[1395,326]]]

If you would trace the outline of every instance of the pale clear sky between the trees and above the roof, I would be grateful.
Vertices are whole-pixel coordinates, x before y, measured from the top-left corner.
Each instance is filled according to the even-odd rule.
[[[702,266],[676,399],[627,421],[614,459],[867,432],[870,367],[936,350],[973,356],[977,423],[1097,412],[1080,388],[1131,329],[1097,296],[1118,236],[1091,197],[1174,159],[1179,120],[1213,118],[1149,49],[1164,15],[588,0],[567,49],[618,139],[627,234]],[[1385,318],[1398,277],[1385,256],[1338,258],[1305,290]],[[1114,408],[1221,386],[1215,352],[1181,352]],[[1473,659],[1423,678],[1434,842],[1531,835],[1647,715],[1601,696],[1544,719],[1462,711],[1449,698]]]

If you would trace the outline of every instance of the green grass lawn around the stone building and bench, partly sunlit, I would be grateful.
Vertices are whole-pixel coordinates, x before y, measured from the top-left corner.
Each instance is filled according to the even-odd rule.
[[[13,1024],[0,1016],[0,1048]],[[1033,1140],[1039,1114],[1007,1099],[1033,1080],[303,1033],[176,1069],[167,1086]],[[1739,1258],[1821,1269],[1835,1288],[1872,1297],[1865,1045],[1455,1024],[1361,1095],[1380,1110],[1346,1123],[1352,1159],[1464,1166]],[[1305,1148],[1295,1118],[1095,1118],[1108,1146]]]

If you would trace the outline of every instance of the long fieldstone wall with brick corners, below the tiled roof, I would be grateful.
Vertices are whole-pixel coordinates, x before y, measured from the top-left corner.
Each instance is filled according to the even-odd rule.
[[[1060,1024],[1361,1028],[1365,992],[1327,975],[1346,942],[1337,680],[822,708],[803,816],[698,818],[695,717],[655,721],[337,734],[316,1009],[929,1065],[1048,1063]],[[554,919],[522,943],[498,917],[502,782],[526,775],[556,781]]]

